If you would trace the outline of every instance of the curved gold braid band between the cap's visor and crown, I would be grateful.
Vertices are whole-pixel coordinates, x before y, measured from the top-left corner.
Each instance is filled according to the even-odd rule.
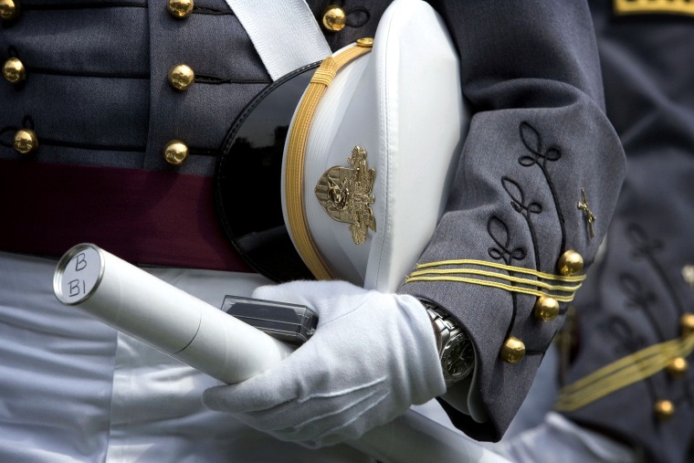
[[[306,142],[309,138],[310,124],[318,108],[321,97],[328,89],[332,79],[344,65],[371,51],[371,46],[363,42],[355,47],[342,50],[337,55],[325,58],[310,79],[310,84],[299,104],[294,124],[289,132],[289,146],[285,167],[285,199],[289,230],[306,266],[316,279],[331,279],[328,266],[310,237],[309,226],[303,203],[303,173]]]

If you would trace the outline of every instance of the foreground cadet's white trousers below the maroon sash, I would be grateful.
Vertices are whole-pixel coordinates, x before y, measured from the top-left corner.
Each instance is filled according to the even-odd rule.
[[[0,461],[359,462],[352,447],[309,450],[207,410],[218,382],[60,304],[57,261],[0,253]],[[175,268],[154,276],[219,307],[257,274]]]

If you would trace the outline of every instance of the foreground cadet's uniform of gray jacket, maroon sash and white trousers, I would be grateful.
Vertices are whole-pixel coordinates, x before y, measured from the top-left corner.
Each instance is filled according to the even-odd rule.
[[[373,37],[388,3],[309,5],[334,51]],[[411,278],[402,292],[468,331],[477,363],[460,387],[472,392],[447,411],[498,440],[573,299],[556,281],[582,279],[605,234],[623,153],[584,2],[432,3],[474,115],[421,263],[468,278]],[[54,259],[84,241],[217,306],[270,282],[226,242],[213,203],[219,147],[272,81],[237,16],[222,0],[0,0],[0,17],[0,457],[365,458],[205,410],[214,381],[52,294]]]

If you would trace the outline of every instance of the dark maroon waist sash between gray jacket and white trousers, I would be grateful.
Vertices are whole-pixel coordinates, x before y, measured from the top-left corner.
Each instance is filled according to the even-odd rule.
[[[94,243],[133,264],[252,271],[216,216],[212,177],[0,161],[0,250]]]

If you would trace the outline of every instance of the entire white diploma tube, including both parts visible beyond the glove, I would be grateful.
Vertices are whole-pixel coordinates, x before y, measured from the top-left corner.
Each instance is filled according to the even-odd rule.
[[[293,350],[95,245],[77,245],[60,258],[53,289],[63,304],[226,384],[261,373]],[[391,463],[508,463],[412,409],[349,444]]]

